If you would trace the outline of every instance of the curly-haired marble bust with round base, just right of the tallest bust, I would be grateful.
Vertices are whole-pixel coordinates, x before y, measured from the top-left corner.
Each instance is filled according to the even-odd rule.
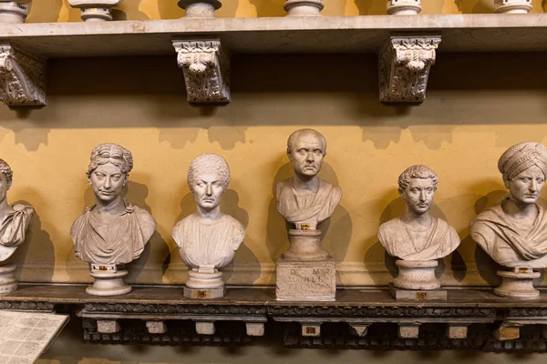
[[[421,165],[408,167],[398,177],[398,192],[407,208],[401,216],[380,225],[377,233],[387,254],[398,258],[398,275],[393,280],[395,288],[440,288],[439,278],[435,276],[438,259],[448,256],[459,246],[454,227],[429,215],[438,182],[437,174]],[[392,294],[397,299],[399,294],[402,299],[411,297],[397,289],[392,290]],[[447,299],[446,291],[440,291],[438,295],[438,299]]]

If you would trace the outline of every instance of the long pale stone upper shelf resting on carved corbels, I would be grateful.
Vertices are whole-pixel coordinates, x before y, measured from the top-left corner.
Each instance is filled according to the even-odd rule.
[[[441,35],[439,52],[547,50],[547,15],[368,15],[0,24],[36,56],[173,55],[173,38],[220,36],[236,53],[379,52],[393,32]]]

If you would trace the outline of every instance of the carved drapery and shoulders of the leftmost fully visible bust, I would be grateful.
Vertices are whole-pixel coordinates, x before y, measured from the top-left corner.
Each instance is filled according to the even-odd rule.
[[[119,215],[93,214],[86,208],[70,230],[77,258],[88,263],[126,264],[140,257],[156,222],[148,211],[124,200]]]

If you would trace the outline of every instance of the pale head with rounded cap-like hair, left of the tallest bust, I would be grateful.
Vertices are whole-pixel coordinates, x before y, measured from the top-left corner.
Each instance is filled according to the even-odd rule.
[[[220,205],[229,183],[230,167],[221,156],[205,153],[191,161],[188,186],[203,211],[212,211]]]

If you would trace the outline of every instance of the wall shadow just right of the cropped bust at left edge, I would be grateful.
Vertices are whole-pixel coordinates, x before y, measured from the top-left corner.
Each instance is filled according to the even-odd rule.
[[[15,204],[31,205],[25,200]],[[12,256],[17,265],[16,278],[21,282],[51,282],[55,268],[55,248],[49,234],[42,229],[36,210],[26,229],[25,242]]]

